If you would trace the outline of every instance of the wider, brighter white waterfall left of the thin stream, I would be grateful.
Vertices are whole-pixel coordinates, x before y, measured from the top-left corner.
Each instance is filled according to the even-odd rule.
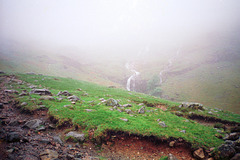
[[[138,71],[136,71],[136,70],[134,69],[134,64],[133,64],[133,63],[132,63],[132,64],[126,63],[125,67],[126,67],[129,71],[133,72],[133,74],[128,78],[128,80],[127,80],[127,86],[126,86],[127,90],[128,90],[128,91],[131,91],[131,82],[132,82],[132,88],[134,89],[134,88],[135,88],[136,78],[137,78],[137,76],[140,74],[140,72],[138,72]]]

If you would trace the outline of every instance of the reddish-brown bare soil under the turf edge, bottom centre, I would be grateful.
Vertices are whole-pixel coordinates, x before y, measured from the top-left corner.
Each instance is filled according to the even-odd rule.
[[[175,155],[179,160],[192,159],[189,144],[176,142],[174,147],[169,147],[168,141],[159,140],[154,137],[140,137],[127,134],[114,134],[111,141],[102,145],[103,157],[113,159],[160,159]]]

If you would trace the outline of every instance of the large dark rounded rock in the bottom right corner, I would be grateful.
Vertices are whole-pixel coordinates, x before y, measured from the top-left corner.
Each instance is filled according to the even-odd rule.
[[[222,159],[230,159],[236,153],[235,149],[231,145],[227,145],[227,144],[222,144],[221,146],[219,146],[218,151],[219,151],[219,156]]]

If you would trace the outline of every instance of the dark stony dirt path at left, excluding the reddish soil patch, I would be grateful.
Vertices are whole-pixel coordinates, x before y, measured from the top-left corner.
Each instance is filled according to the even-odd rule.
[[[3,104],[3,109],[0,110],[0,138],[2,139],[0,142],[0,157],[2,159],[44,159],[44,156],[41,155],[44,151],[49,150],[53,152],[48,156],[57,154],[59,159],[73,159],[73,157],[94,159],[97,156],[91,148],[92,144],[85,147],[78,143],[62,141],[61,135],[64,131],[53,127],[54,124],[49,120],[46,110],[38,110],[30,114],[17,109],[13,97],[4,91],[6,89],[4,84],[12,78],[5,77],[0,84],[0,103]],[[41,120],[45,129],[36,131],[35,129],[24,128],[24,124],[33,119]]]

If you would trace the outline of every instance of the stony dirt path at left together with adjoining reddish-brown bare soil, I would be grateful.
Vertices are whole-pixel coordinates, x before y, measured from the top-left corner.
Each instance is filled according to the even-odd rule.
[[[120,159],[160,159],[169,153],[179,160],[192,158],[190,148],[184,144],[169,147],[169,142],[141,138],[133,135],[113,134],[105,139],[99,147],[92,141],[84,144],[64,141],[66,128],[56,128],[50,121],[47,110],[23,112],[17,107],[13,96],[6,92],[5,84],[14,79],[14,76],[2,76],[0,84],[0,159],[14,160],[46,160],[49,157],[58,159],[86,159],[98,160],[99,157],[108,157],[109,160]],[[38,119],[44,128],[25,128],[24,124]],[[69,129],[69,128],[67,128]],[[70,128],[71,129],[71,128]]]

